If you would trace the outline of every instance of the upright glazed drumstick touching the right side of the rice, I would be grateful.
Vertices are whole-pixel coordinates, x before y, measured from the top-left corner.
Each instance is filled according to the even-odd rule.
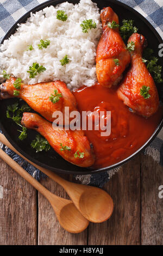
[[[118,32],[118,27],[108,27],[108,23],[112,22],[118,25],[118,16],[110,7],[104,8],[100,16],[103,33],[97,46],[96,74],[98,82],[110,88],[120,82],[123,71],[130,63],[130,54]]]

